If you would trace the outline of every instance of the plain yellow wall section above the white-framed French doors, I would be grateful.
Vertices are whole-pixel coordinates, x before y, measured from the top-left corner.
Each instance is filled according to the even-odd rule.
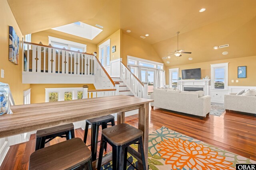
[[[158,56],[152,45],[123,33],[122,62],[125,65],[127,64],[127,55],[163,63],[162,59]]]

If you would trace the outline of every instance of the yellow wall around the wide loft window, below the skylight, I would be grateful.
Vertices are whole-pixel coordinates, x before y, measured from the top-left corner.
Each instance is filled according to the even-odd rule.
[[[74,41],[76,43],[86,44],[87,45],[86,53],[92,54],[97,50],[96,44],[92,44],[92,43],[89,43],[88,41],[84,41],[84,38],[82,38],[82,37],[69,35],[67,33],[62,33],[60,31],[56,31],[56,30],[52,30],[52,29],[49,29],[46,31],[40,31],[37,33],[32,33],[31,42],[39,43],[41,41],[44,45],[48,45],[49,44],[48,36],[56,37],[56,38],[60,38],[60,39],[66,39],[68,41]]]

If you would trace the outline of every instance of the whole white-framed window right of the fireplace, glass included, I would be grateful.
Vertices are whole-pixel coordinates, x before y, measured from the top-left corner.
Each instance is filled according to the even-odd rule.
[[[211,64],[212,89],[228,89],[228,63]]]

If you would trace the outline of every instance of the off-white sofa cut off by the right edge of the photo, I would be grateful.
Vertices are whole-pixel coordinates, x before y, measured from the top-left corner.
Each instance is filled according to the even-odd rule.
[[[254,116],[256,116],[256,96],[242,96],[230,93],[224,96],[224,108],[226,110],[254,113]]]

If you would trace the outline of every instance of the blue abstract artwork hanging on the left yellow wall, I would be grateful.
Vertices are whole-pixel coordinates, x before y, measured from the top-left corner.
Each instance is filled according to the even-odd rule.
[[[20,39],[18,35],[14,28],[9,26],[9,61],[17,65],[19,63],[19,45]]]

